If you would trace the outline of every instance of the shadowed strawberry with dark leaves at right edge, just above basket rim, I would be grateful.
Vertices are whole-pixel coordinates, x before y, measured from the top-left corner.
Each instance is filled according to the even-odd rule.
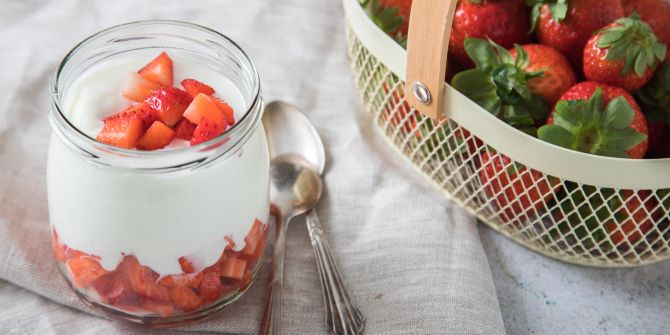
[[[649,156],[670,158],[670,60],[635,97],[649,121]]]

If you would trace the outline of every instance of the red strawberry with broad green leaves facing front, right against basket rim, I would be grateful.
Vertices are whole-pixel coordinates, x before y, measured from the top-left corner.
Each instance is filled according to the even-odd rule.
[[[538,130],[540,139],[558,146],[629,158],[644,157],[647,134],[647,120],[628,92],[594,82],[565,92],[547,125]]]

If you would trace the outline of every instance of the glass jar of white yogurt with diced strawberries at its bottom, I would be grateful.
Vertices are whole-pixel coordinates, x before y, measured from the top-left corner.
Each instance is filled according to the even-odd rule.
[[[68,104],[85,98],[72,91],[78,78],[104,85],[99,64],[162,51],[175,71],[181,61],[227,78],[244,106],[237,123],[205,143],[159,151],[112,147],[73,125]],[[52,246],[74,292],[115,317],[156,326],[201,319],[239,298],[262,264],[269,219],[260,82],[244,51],[189,23],[124,24],[70,51],[50,94]]]

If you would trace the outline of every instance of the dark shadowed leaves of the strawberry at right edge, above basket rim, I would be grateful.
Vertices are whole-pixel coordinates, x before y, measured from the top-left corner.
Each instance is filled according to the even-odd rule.
[[[670,127],[670,60],[658,68],[645,87],[635,92],[635,97],[649,120],[662,121]]]

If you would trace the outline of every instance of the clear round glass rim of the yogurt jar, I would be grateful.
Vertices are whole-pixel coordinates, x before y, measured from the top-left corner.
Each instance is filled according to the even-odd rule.
[[[95,140],[94,138],[88,136],[86,133],[81,131],[79,128],[74,126],[70,120],[65,116],[63,113],[63,109],[61,106],[61,96],[59,92],[59,82],[61,79],[62,71],[65,68],[65,66],[68,64],[68,61],[70,61],[74,55],[77,54],[80,50],[82,50],[84,47],[86,47],[89,43],[91,43],[93,40],[103,37],[107,34],[117,32],[119,30],[123,30],[126,28],[132,28],[132,27],[141,27],[141,26],[150,26],[150,25],[171,25],[171,26],[179,26],[179,27],[185,27],[185,28],[190,28],[190,29],[197,29],[202,32],[205,32],[207,34],[213,35],[217,38],[223,39],[225,42],[229,43],[236,51],[238,51],[245,62],[248,63],[249,69],[250,69],[250,74],[251,74],[251,81],[252,81],[252,99],[251,102],[248,104],[247,110],[244,112],[243,116],[240,118],[238,122],[236,122],[232,127],[226,130],[223,134],[219,135],[216,138],[213,138],[207,142],[200,143],[195,146],[191,147],[185,147],[185,148],[176,148],[176,149],[169,149],[169,150],[157,150],[157,151],[141,151],[141,150],[133,150],[133,149],[123,149],[115,146],[111,146],[102,142],[99,142]],[[168,156],[177,156],[180,154],[185,154],[185,153],[196,153],[196,152],[203,152],[207,151],[206,149],[219,144],[220,147],[223,147],[222,150],[209,150],[208,152],[218,152],[219,155],[217,157],[220,157],[222,154],[225,154],[226,152],[229,151],[234,151],[237,147],[242,145],[250,136],[250,133],[256,129],[258,124],[260,124],[260,118],[262,116],[261,108],[260,105],[262,104],[262,99],[261,99],[261,86],[260,86],[260,76],[258,74],[258,70],[256,68],[256,65],[254,62],[251,60],[249,55],[242,49],[235,41],[232,39],[228,38],[227,36],[223,35],[222,33],[219,33],[213,29],[194,24],[194,23],[189,23],[189,22],[183,22],[183,21],[175,21],[175,20],[143,20],[143,21],[134,21],[134,22],[128,22],[120,25],[116,25],[113,27],[109,27],[106,29],[103,29],[83,41],[79,42],[72,50],[70,50],[63,60],[59,63],[59,65],[56,67],[56,70],[54,71],[52,78],[51,78],[51,84],[50,84],[50,96],[51,96],[51,103],[52,103],[52,108],[51,108],[51,118],[52,118],[52,130],[56,132],[62,131],[59,127],[64,126],[67,131],[69,131],[71,134],[74,134],[74,137],[77,140],[82,141],[83,143],[87,144],[90,148],[95,148],[97,151],[109,153],[109,154],[115,154],[115,155],[120,155],[124,157],[168,157]],[[250,120],[253,119],[253,120]],[[54,120],[55,119],[55,120]],[[60,125],[55,125],[54,121],[60,123]],[[244,127],[244,125],[248,125],[248,123],[252,123],[251,127]],[[66,136],[67,137],[67,136]],[[240,140],[235,141],[235,142],[229,142],[226,141],[227,138],[239,138]],[[68,144],[74,145],[77,147],[78,150],[88,152],[90,148],[82,148],[78,143],[74,143],[73,141],[69,139],[63,139],[61,137],[61,140],[66,140]],[[223,144],[220,144],[222,143]],[[222,152],[223,151],[223,152]],[[184,165],[188,166],[188,165]]]

